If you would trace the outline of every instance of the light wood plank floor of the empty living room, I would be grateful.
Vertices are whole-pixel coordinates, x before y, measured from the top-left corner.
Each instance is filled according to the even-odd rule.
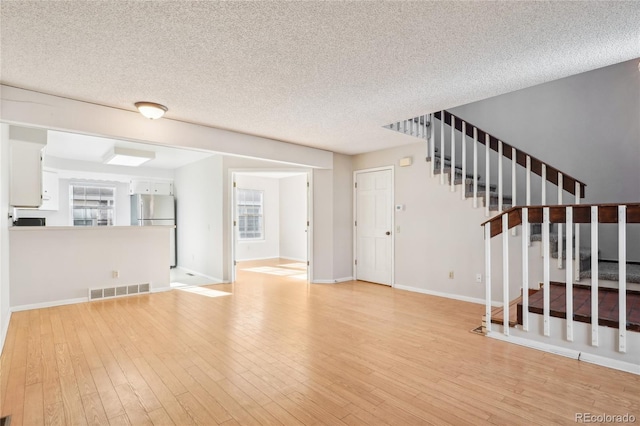
[[[14,313],[2,415],[12,426],[640,418],[640,377],[472,334],[482,306],[238,269],[235,285]]]

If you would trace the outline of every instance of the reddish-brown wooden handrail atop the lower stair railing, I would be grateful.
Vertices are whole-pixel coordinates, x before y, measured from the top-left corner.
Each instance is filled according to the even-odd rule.
[[[546,206],[516,206],[486,220],[485,226],[491,224],[491,238],[500,235],[502,229],[502,216],[509,216],[509,229],[522,224],[522,209],[529,209],[529,223],[542,223],[542,210],[549,208],[550,223],[565,223],[567,207],[573,207],[573,223],[591,223],[591,207],[598,207],[599,223],[618,223],[618,206],[627,206],[627,223],[640,223],[640,203],[619,204],[561,204]]]

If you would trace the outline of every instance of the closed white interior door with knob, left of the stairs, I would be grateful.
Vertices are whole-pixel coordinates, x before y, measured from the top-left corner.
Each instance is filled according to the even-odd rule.
[[[356,173],[356,277],[391,285],[393,178],[391,170]]]

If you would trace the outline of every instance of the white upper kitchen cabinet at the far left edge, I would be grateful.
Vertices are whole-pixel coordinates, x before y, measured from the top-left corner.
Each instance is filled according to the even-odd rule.
[[[40,207],[42,204],[43,144],[11,140],[10,195],[14,207]]]

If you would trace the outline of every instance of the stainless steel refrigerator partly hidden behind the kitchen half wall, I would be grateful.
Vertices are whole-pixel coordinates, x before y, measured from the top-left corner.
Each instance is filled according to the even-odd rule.
[[[131,225],[175,226],[176,203],[173,195],[134,194],[131,196]],[[176,229],[171,230],[171,262],[176,266]]]

